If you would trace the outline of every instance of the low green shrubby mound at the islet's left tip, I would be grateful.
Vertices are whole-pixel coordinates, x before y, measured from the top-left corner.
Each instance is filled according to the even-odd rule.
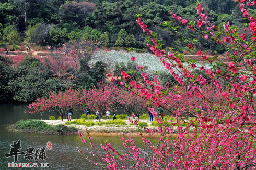
[[[75,127],[67,127],[65,125],[51,126],[38,119],[20,120],[14,125],[9,126],[10,130],[19,132],[35,132],[40,134],[64,135],[77,134],[78,129]]]

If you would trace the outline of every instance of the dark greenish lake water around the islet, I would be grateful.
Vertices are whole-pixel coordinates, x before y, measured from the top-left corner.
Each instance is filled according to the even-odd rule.
[[[21,132],[9,132],[6,130],[7,124],[14,124],[21,119],[40,119],[36,114],[24,113],[27,109],[27,104],[0,104],[0,169],[101,169],[85,159],[85,155],[89,154],[86,152],[86,148],[89,147],[83,145],[78,135],[43,135],[37,133],[21,133]],[[119,113],[122,111],[119,110]],[[77,112],[72,117],[79,117]],[[44,119],[47,119],[49,115],[57,115],[54,112],[47,112],[44,115]],[[86,142],[89,144],[87,135],[83,136]],[[111,141],[112,146],[116,147],[121,152],[125,153],[122,140],[122,136],[115,137],[92,137],[96,150],[103,154],[104,152],[100,148],[99,144],[103,141]],[[125,139],[128,137],[125,137]],[[137,137],[133,138],[135,144],[138,147],[143,148],[142,139]],[[23,155],[18,155],[18,161],[16,163],[49,163],[49,167],[11,167],[8,168],[8,163],[14,162],[14,157],[5,157],[5,154],[10,152],[10,145],[14,141],[21,141],[21,152],[26,152],[26,148],[46,148],[46,143],[49,141],[52,143],[52,149],[45,149],[47,158],[44,160],[26,160]],[[157,142],[156,138],[153,138],[153,142]],[[76,147],[82,149],[84,152],[79,153]],[[96,160],[95,160],[96,161]],[[106,169],[106,168],[103,168]]]

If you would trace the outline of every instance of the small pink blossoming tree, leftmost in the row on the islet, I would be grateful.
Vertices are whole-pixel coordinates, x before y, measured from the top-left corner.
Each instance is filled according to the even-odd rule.
[[[44,112],[50,109],[50,102],[45,97],[36,99],[31,104],[28,104],[28,111],[25,110],[25,113],[28,112],[30,114],[38,114],[39,117],[41,117],[41,120],[43,119]]]

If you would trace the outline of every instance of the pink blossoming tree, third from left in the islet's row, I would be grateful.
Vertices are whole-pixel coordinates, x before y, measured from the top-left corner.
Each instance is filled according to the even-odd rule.
[[[89,89],[84,94],[86,97],[82,97],[87,100],[80,100],[82,108],[90,107],[90,110],[94,112],[99,111],[99,122],[107,110],[117,106],[118,88],[113,83],[98,84],[97,87]]]

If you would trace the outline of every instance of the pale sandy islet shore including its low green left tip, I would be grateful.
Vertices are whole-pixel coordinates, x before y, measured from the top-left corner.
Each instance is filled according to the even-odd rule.
[[[25,122],[29,120],[25,120]],[[35,121],[35,120],[30,120],[30,122]],[[85,126],[85,125],[77,125],[77,124],[71,124],[71,125],[65,125],[65,122],[67,119],[61,120],[36,120],[37,122],[41,122],[47,126],[51,126],[52,128],[56,126],[63,126],[68,128],[76,128],[83,132],[84,134],[87,134],[86,129],[88,132],[90,132],[91,136],[102,136],[102,137],[115,137],[115,136],[133,136],[133,137],[139,137],[141,136],[138,131],[138,127],[135,125],[132,125],[129,120],[124,120],[126,125],[94,125],[94,126]],[[93,122],[98,122],[98,120],[88,120],[88,121],[93,121]],[[105,119],[102,119],[102,122],[107,121]],[[161,134],[158,132],[158,127],[152,126],[151,122],[149,120],[141,120],[144,121],[147,124],[147,128],[150,128],[155,131],[155,133],[147,133],[145,130],[142,130],[142,134],[144,137],[159,137]],[[17,123],[19,123],[18,121]],[[16,123],[16,124],[17,124]],[[8,130],[13,130],[13,131],[18,131],[18,132],[35,132],[34,130],[30,129],[30,125],[28,125],[26,128],[23,128],[21,126],[21,129],[15,129],[15,125],[9,125]],[[65,125],[65,126],[64,126]],[[60,133],[55,133],[49,130],[44,130],[40,129],[41,127],[38,127],[36,133],[39,134],[49,134],[49,135],[56,135]],[[176,131],[176,130],[174,130]],[[78,133],[61,133],[61,135],[70,135],[70,134],[78,134]],[[171,137],[177,137],[177,133],[174,132],[173,134],[170,134]]]

